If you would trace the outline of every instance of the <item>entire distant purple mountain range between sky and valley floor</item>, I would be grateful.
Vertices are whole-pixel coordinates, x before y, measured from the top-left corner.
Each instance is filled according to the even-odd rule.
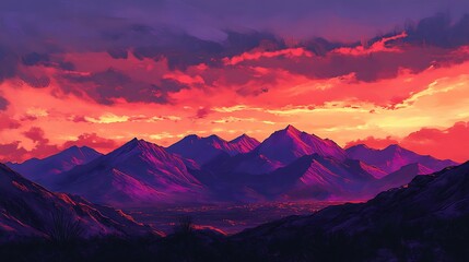
[[[57,155],[8,164],[57,192],[115,206],[265,200],[362,200],[456,165],[399,145],[343,150],[293,126],[262,142],[188,135],[162,147],[133,139],[101,155],[71,147]]]

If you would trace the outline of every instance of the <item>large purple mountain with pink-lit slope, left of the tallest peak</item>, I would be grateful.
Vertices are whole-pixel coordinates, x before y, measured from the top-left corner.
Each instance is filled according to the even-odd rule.
[[[204,191],[181,158],[137,139],[61,174],[51,189],[115,206],[197,201]]]

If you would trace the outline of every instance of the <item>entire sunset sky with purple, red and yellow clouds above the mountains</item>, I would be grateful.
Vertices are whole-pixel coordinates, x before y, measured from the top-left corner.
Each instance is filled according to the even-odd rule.
[[[1,162],[288,124],[469,159],[468,1],[3,0],[0,31]]]

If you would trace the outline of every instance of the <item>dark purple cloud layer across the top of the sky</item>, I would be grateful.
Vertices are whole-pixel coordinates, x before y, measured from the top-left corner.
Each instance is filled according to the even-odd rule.
[[[213,75],[232,85],[259,83],[255,90],[236,87],[239,95],[261,95],[275,81],[275,75],[256,75],[249,68],[255,66],[319,79],[354,73],[359,81],[371,82],[392,78],[400,68],[420,72],[435,63],[466,60],[438,48],[469,44],[467,12],[469,2],[462,0],[5,0],[0,2],[4,36],[0,38],[0,81],[19,78],[42,88],[56,78],[63,92],[106,105],[118,98],[167,104],[172,93],[189,88],[167,79],[142,81],[115,69],[75,74],[75,64],[65,58],[68,52],[107,52],[116,60],[131,55],[164,59],[172,71],[200,63],[223,69],[207,72],[207,85],[218,81]],[[362,57],[330,53],[362,45],[364,39],[371,39],[365,44],[371,46],[403,29],[408,37],[387,45],[436,49]],[[303,47],[319,59],[261,58],[231,68],[223,63],[223,58],[253,49],[274,51],[289,46]],[[50,75],[37,68],[59,72]],[[0,98],[0,109],[5,105]]]

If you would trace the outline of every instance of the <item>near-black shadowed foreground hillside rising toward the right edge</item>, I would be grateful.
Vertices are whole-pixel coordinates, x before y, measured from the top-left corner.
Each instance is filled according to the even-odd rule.
[[[232,239],[241,255],[265,261],[467,261],[468,218],[466,163],[418,176],[366,203],[286,217]]]

